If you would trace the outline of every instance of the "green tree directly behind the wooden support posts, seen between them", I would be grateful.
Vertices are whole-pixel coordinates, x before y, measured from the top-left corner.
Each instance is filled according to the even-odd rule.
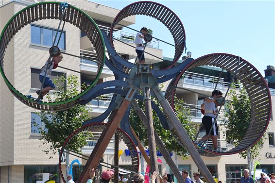
[[[177,98],[175,98],[175,101],[184,103],[183,100]],[[155,103],[159,106],[159,104],[156,101]],[[143,101],[138,101],[138,104],[145,112]],[[183,127],[189,134],[189,137],[192,140],[194,140],[194,136],[196,134],[196,125],[192,122],[192,119],[190,117],[190,110],[178,103],[175,103],[175,113],[179,118],[180,122],[182,123]],[[148,146],[146,127],[140,121],[139,117],[137,116],[137,113],[133,109],[131,110],[129,121],[133,130],[137,133],[139,140],[144,142],[145,146]],[[177,155],[186,157],[188,155],[187,150],[182,148],[178,144],[178,142],[174,138],[172,138],[171,132],[169,130],[165,130],[161,126],[161,122],[155,111],[153,111],[153,121],[155,132],[159,135],[166,149],[170,152],[175,152]]]

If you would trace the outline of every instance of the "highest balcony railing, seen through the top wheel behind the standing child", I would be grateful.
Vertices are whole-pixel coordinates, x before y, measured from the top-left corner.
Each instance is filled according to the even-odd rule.
[[[109,34],[111,29],[110,27],[105,27],[102,25],[98,25],[98,27],[100,30],[105,31],[107,34]],[[128,43],[135,43],[136,35],[137,33],[129,33],[118,29],[114,29],[113,31],[114,38]],[[159,41],[153,38],[152,41],[147,44],[147,47],[159,49]]]

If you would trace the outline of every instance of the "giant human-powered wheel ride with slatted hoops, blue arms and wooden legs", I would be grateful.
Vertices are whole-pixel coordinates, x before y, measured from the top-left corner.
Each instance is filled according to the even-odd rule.
[[[127,135],[123,133],[122,136],[125,137],[125,143],[127,146],[129,145],[129,149],[134,152],[132,154],[132,161],[134,162],[133,170],[138,170],[138,154],[135,148],[136,146],[140,146],[140,143],[136,137],[136,134],[131,130],[131,126],[129,124],[129,114],[131,107],[135,109],[138,116],[147,127],[149,150],[151,152],[150,165],[152,171],[157,170],[155,146],[157,145],[163,154],[165,154],[165,152],[167,153],[167,150],[163,146],[161,140],[154,132],[152,118],[153,109],[159,116],[163,128],[170,130],[172,135],[178,140],[183,148],[186,148],[189,151],[190,156],[193,158],[195,164],[199,167],[207,182],[214,182],[214,180],[208,168],[204,164],[199,152],[206,156],[238,153],[255,144],[266,130],[271,115],[271,100],[267,83],[258,70],[240,57],[224,53],[209,54],[196,60],[188,58],[178,66],[174,67],[176,61],[180,58],[185,48],[186,36],[184,27],[179,18],[169,8],[152,1],[135,2],[123,8],[115,18],[109,35],[107,35],[105,32],[101,33],[92,19],[84,12],[75,7],[69,6],[66,17],[64,17],[63,20],[78,26],[87,34],[94,47],[98,49],[98,74],[100,74],[103,61],[105,61],[107,67],[109,67],[114,72],[116,80],[100,83],[94,86],[92,90],[89,87],[88,90],[76,98],[73,98],[73,100],[65,101],[63,103],[40,104],[29,100],[24,95],[20,94],[5,77],[4,71],[2,69],[4,64],[4,52],[13,35],[15,35],[15,33],[17,33],[17,31],[20,30],[24,25],[27,25],[28,23],[38,19],[62,19],[60,17],[59,6],[60,3],[57,2],[38,3],[23,9],[9,21],[0,37],[0,71],[13,94],[19,100],[37,109],[55,111],[63,110],[72,107],[76,103],[85,105],[90,100],[96,98],[99,95],[114,94],[108,109],[101,116],[85,121],[83,127],[72,133],[67,138],[62,147],[59,160],[60,168],[61,158],[64,150],[66,150],[66,146],[77,133],[85,130],[89,131],[93,128],[103,129],[103,133],[91,155],[86,157],[86,166],[77,183],[86,182],[88,178],[88,168],[96,168],[98,166],[103,156],[104,150],[108,146],[108,143],[111,140],[113,134],[118,133],[121,136],[122,131],[127,133]],[[119,24],[121,20],[132,15],[145,15],[154,17],[162,22],[170,30],[174,38],[173,46],[175,47],[175,55],[172,64],[169,67],[164,70],[155,70],[151,69],[151,66],[147,64],[132,64],[120,57],[120,55],[114,50],[112,34],[115,25],[121,25]],[[105,57],[103,48],[104,46],[106,46],[108,50],[110,59]],[[218,153],[211,150],[199,150],[198,152],[198,148],[194,146],[194,143],[190,140],[188,134],[182,127],[179,119],[173,111],[173,98],[179,78],[189,68],[206,65],[221,67],[229,73],[236,71],[236,77],[244,85],[248,92],[249,98],[252,101],[252,118],[245,137],[238,146],[223,153]],[[172,82],[170,83],[164,96],[158,88],[158,84],[171,79]],[[137,91],[141,92],[142,95],[138,94]],[[151,100],[151,95],[153,95],[159,101],[163,112]],[[144,101],[146,108],[145,112],[143,112],[142,109],[137,105],[136,100]],[[99,124],[99,122],[102,122],[108,116],[109,119],[107,124]],[[119,125],[121,130],[118,129]],[[174,165],[172,160],[169,159],[169,155],[164,157],[168,165],[172,167],[172,171],[175,173],[176,178],[180,182],[183,182],[182,176],[177,171],[177,167]],[[61,175],[63,181],[65,181],[62,171]]]

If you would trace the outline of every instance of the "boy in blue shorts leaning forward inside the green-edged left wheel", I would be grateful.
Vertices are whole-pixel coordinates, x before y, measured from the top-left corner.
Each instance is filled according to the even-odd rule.
[[[41,90],[41,94],[39,99],[43,99],[43,97],[49,93],[50,90],[53,90],[55,88],[54,83],[52,82],[50,75],[52,74],[52,69],[55,69],[58,66],[58,63],[61,62],[61,60],[63,59],[63,55],[61,53],[55,55],[52,57],[52,59],[47,60],[47,62],[45,63],[45,65],[42,67],[42,71],[39,74],[39,81],[41,83],[43,83],[43,78],[45,76],[45,81],[43,83],[43,89]],[[48,66],[48,62],[49,66]],[[48,66],[47,69],[47,73],[45,73],[46,68]],[[39,95],[40,90],[36,91],[36,94]]]

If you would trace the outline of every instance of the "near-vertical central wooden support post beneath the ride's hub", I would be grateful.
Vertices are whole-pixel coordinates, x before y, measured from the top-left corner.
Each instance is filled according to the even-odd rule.
[[[146,113],[146,129],[147,129],[147,139],[148,139],[148,148],[150,156],[150,173],[154,171],[158,172],[157,166],[157,157],[156,157],[156,148],[155,148],[155,134],[153,126],[153,114],[152,114],[152,105],[150,99],[150,89],[149,86],[144,86],[143,88],[144,104],[145,104],[145,113]],[[159,183],[159,177],[156,178],[156,183]]]

